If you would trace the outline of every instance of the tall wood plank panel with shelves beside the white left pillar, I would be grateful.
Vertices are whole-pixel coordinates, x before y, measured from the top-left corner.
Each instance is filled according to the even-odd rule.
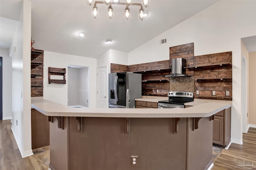
[[[31,50],[31,97],[43,96],[44,51]]]

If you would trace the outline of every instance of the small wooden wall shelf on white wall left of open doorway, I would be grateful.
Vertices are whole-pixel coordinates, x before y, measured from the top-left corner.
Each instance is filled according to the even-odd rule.
[[[63,76],[63,80],[51,79],[51,75]],[[48,80],[49,80],[49,84],[51,83],[66,84],[66,68],[48,67]]]

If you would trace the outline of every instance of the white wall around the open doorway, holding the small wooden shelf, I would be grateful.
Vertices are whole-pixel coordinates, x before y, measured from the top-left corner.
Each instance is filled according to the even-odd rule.
[[[96,67],[93,58],[44,51],[44,99],[68,106],[67,84],[48,84],[48,67],[66,68],[68,65],[89,67],[89,107],[96,108]],[[68,80],[68,74],[66,74]]]

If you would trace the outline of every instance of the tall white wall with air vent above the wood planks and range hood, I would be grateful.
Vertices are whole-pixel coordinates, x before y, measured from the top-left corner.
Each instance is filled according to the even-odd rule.
[[[169,47],[194,42],[194,55],[232,51],[231,140],[242,144],[241,38],[256,35],[256,1],[220,0],[134,49],[128,65],[169,59]],[[167,44],[159,45],[159,39]]]

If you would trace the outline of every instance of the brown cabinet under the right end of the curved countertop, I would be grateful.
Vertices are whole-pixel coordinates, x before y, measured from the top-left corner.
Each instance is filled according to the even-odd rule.
[[[231,107],[215,114],[212,142],[226,147],[230,143]]]

